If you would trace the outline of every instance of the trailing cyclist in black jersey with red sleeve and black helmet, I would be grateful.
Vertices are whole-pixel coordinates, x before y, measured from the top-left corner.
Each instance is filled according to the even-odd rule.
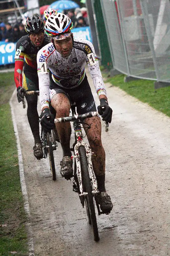
[[[39,90],[37,75],[37,53],[50,41],[44,35],[44,22],[39,16],[28,17],[25,23],[28,35],[21,37],[16,44],[14,80],[17,87],[18,102],[23,99],[23,90]],[[25,61],[24,61],[25,59]],[[22,70],[24,67],[24,74]],[[39,136],[39,115],[37,111],[37,95],[25,95],[27,100],[27,117],[34,137],[34,156],[43,157],[42,144]]]

